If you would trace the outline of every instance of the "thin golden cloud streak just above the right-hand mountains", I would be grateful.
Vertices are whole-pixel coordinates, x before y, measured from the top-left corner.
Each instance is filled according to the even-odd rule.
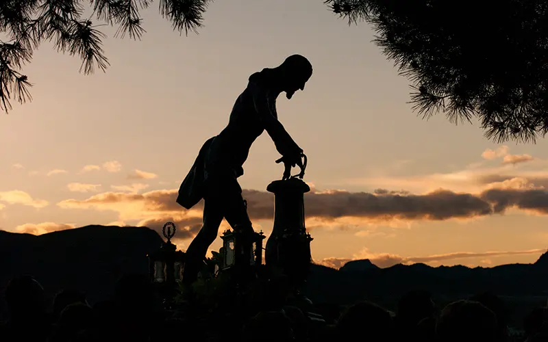
[[[524,254],[542,254],[547,252],[545,248],[539,248],[534,250],[514,250],[514,251],[493,251],[493,252],[452,252],[446,254],[435,254],[427,257],[401,257],[398,254],[389,253],[373,253],[367,248],[364,248],[360,253],[355,254],[352,258],[325,258],[319,261],[315,261],[320,265],[327,267],[333,267],[339,269],[343,267],[345,263],[354,260],[369,259],[371,263],[378,267],[385,268],[393,265],[412,264],[412,263],[436,263],[449,260],[461,260],[471,258],[486,258],[486,257],[503,257],[508,255],[524,255]],[[482,263],[490,264],[490,260],[483,260]]]

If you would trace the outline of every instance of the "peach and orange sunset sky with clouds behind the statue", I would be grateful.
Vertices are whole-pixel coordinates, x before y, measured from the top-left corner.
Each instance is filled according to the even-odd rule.
[[[79,74],[80,61],[51,44],[25,67],[34,101],[0,115],[1,229],[173,220],[185,250],[201,211],[175,197],[200,146],[225,127],[249,75],[300,53],[314,75],[277,109],[308,156],[315,261],[490,267],[534,262],[548,248],[548,142],[495,145],[476,123],[417,117],[408,81],[365,23],[349,26],[319,0],[214,2],[188,37],[155,5],[142,16],[140,42],[105,29],[105,74]],[[240,178],[256,190],[244,196],[266,235],[278,157],[264,133]]]

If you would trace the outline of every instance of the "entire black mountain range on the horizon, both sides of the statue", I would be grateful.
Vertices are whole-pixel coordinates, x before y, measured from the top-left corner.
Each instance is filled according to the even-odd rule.
[[[75,287],[95,302],[112,293],[122,274],[147,274],[146,256],[160,244],[160,235],[145,227],[85,226],[38,236],[0,231],[0,292],[10,278],[32,274],[50,295]],[[534,264],[492,268],[417,263],[382,269],[369,260],[351,261],[339,270],[312,265],[303,291],[316,303],[369,299],[393,309],[410,289],[426,289],[440,300],[491,291],[505,298],[533,298],[527,305],[545,304],[548,253]],[[0,301],[0,319],[4,315]]]

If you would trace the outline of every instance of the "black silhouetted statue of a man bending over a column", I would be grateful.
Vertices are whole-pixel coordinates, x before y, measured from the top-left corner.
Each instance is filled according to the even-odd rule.
[[[282,92],[292,98],[311,76],[312,64],[301,55],[291,55],[276,68],[254,73],[236,99],[227,127],[201,147],[177,197],[177,203],[186,209],[204,199],[203,226],[186,251],[183,278],[187,284],[196,279],[199,264],[216,239],[223,218],[235,230],[253,232],[237,179],[244,173],[243,163],[257,137],[265,130],[271,136],[282,155],[276,162],[284,162],[284,179],[290,177],[292,167],[303,168],[303,150],[278,121],[276,98]]]

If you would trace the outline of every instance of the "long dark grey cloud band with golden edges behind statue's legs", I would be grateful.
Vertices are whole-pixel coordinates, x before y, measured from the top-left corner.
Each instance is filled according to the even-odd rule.
[[[305,194],[306,216],[315,225],[347,222],[356,224],[390,221],[466,220],[488,215],[501,215],[519,209],[536,215],[548,214],[548,191],[519,183],[520,186],[490,187],[478,194],[457,193],[439,189],[427,194],[390,192],[377,189],[373,193],[335,190]],[[273,194],[245,189],[251,220],[273,218]],[[177,205],[177,190],[155,190],[143,194],[103,192],[84,200],[58,202],[63,209],[114,211],[122,222],[138,220],[139,226],[158,229],[173,221],[192,237],[201,225],[203,202],[187,211]],[[346,221],[345,221],[346,220]]]

